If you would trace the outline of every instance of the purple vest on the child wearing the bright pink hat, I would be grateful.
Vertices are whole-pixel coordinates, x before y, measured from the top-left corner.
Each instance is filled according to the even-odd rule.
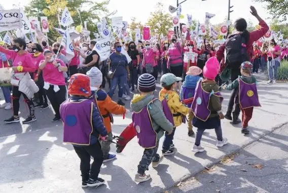
[[[210,97],[211,95],[214,95],[216,97],[220,97],[220,102],[222,103],[223,97],[220,92],[206,92],[202,88],[202,81],[198,81],[197,86],[195,88],[195,95],[194,95],[194,101],[192,103],[192,111],[194,115],[202,120],[206,121],[210,114],[211,111],[209,110],[209,102],[210,102]]]

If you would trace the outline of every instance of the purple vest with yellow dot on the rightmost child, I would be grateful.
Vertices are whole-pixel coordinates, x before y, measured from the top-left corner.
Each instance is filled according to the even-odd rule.
[[[256,83],[248,84],[238,78],[239,82],[239,104],[242,109],[250,107],[261,107],[258,99]]]

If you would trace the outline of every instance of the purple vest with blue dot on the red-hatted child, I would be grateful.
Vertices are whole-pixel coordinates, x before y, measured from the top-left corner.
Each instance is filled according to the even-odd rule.
[[[90,145],[93,132],[93,102],[83,100],[71,102],[67,100],[60,106],[60,116],[64,123],[63,142],[75,145]]]

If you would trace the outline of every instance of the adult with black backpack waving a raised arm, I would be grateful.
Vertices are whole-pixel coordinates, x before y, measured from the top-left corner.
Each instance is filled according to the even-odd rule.
[[[269,30],[269,26],[258,15],[257,10],[253,6],[251,6],[250,9],[251,9],[250,13],[253,16],[255,16],[258,19],[258,21],[259,21],[259,25],[261,26],[259,29],[251,31],[249,33],[249,31],[247,31],[247,22],[243,18],[237,19],[235,21],[235,23],[234,23],[234,27],[237,30],[236,34],[241,34],[241,36],[244,39],[244,44],[246,46],[246,54],[247,54],[247,57],[248,57],[247,59],[248,60],[251,60],[251,53],[253,51],[253,43],[255,41],[259,40],[261,37],[263,37],[267,33],[267,31]],[[235,34],[232,35],[232,37],[233,36],[235,36]],[[224,58],[225,47],[226,47],[225,44],[221,45],[219,50],[216,53],[217,58],[218,58],[219,61],[221,61]],[[231,68],[231,76],[230,76],[231,81],[234,81],[240,75],[240,65],[241,65],[242,62],[243,61],[239,61],[237,63],[226,63],[227,67]],[[226,112],[226,115],[225,115],[225,118],[229,119],[229,120],[232,120],[231,113],[232,113],[232,110],[233,110],[236,93],[238,93],[238,90],[234,89],[232,91],[231,95],[230,95],[228,108],[227,108],[227,112]],[[233,112],[233,121],[232,121],[232,123],[237,124],[237,123],[241,122],[238,119],[239,113],[240,113],[240,107],[239,107],[239,104],[236,104],[235,110]]]

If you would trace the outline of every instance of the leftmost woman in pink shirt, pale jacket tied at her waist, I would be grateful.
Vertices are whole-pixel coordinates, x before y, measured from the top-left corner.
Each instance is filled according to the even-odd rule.
[[[13,116],[9,119],[4,120],[5,123],[19,122],[19,108],[20,108],[20,97],[23,95],[25,102],[28,104],[29,116],[22,123],[29,123],[36,120],[34,114],[34,104],[32,102],[33,90],[28,82],[31,82],[31,77],[27,73],[35,71],[34,63],[32,62],[31,56],[25,51],[26,42],[22,38],[13,40],[13,50],[5,49],[0,46],[0,52],[10,56],[13,60],[12,70],[13,75],[11,79],[12,87],[12,100],[13,100]],[[21,86],[21,88],[20,88]],[[20,91],[21,90],[21,91]],[[32,95],[31,95],[32,93]]]

